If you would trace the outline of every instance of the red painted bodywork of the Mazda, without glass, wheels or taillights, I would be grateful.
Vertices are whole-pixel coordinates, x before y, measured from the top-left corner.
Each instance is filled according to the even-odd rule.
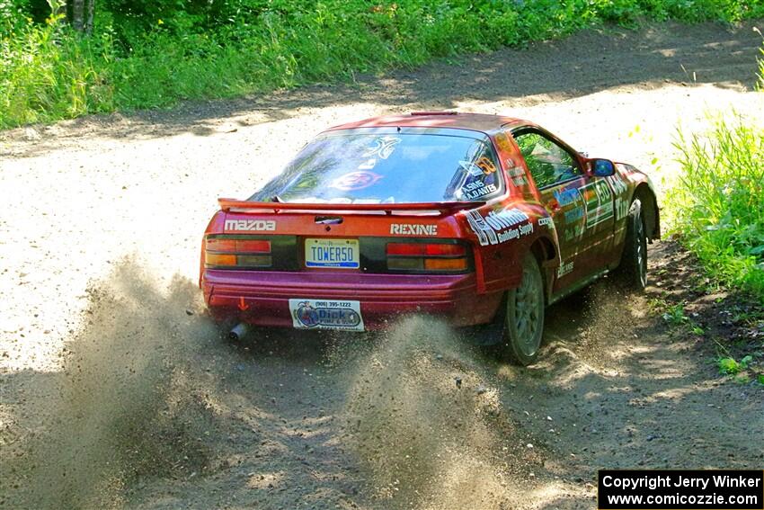
[[[396,316],[424,313],[454,326],[490,322],[504,292],[517,286],[521,261],[532,251],[546,276],[546,299],[555,300],[592,275],[614,268],[626,232],[625,207],[638,195],[648,213],[648,237],[660,236],[657,205],[649,179],[617,164],[611,177],[594,177],[591,160],[535,124],[481,114],[415,114],[337,126],[330,131],[413,127],[473,130],[487,135],[499,158],[505,186],[490,201],[394,204],[329,204],[220,199],[205,238],[219,235],[263,237],[277,242],[289,270],[239,270],[205,266],[200,287],[211,314],[266,327],[291,327],[289,300],[355,300],[366,329],[385,327]],[[584,174],[538,190],[520,148],[517,130],[533,130],[569,149]],[[626,206],[624,205],[626,204]],[[324,218],[337,219],[327,224]],[[467,246],[469,270],[454,274],[398,274],[356,269],[306,267],[305,239],[360,239],[360,244],[416,242]],[[278,255],[278,254],[277,254]],[[277,255],[272,255],[276,257]],[[294,260],[291,260],[291,259]],[[361,264],[363,265],[363,264]]]

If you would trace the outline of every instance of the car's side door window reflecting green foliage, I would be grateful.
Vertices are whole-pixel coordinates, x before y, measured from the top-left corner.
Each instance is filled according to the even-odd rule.
[[[582,175],[573,156],[545,136],[529,131],[514,135],[514,139],[537,188],[546,188]]]

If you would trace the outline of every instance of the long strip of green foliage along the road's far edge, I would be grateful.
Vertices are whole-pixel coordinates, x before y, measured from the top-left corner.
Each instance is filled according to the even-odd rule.
[[[764,13],[764,0],[104,0],[83,38],[39,22],[41,4],[0,0],[0,128],[352,80],[601,22]]]

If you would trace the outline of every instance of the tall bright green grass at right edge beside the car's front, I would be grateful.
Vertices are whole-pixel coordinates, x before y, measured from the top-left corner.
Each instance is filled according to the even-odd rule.
[[[707,136],[680,134],[677,148],[673,228],[715,278],[764,300],[764,130],[718,120]]]

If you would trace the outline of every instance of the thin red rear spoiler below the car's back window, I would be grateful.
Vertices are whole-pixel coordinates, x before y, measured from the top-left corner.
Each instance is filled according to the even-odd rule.
[[[439,211],[441,214],[457,210],[474,209],[484,201],[432,201],[417,203],[297,203],[283,201],[243,201],[219,198],[220,209],[240,212],[282,210],[331,210],[334,212],[384,212],[393,214],[404,211]]]

